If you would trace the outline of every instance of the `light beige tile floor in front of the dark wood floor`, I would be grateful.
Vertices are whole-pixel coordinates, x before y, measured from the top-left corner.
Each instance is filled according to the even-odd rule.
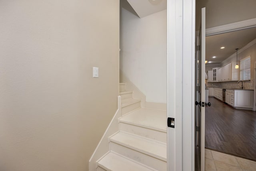
[[[256,161],[205,149],[205,171],[256,171]]]

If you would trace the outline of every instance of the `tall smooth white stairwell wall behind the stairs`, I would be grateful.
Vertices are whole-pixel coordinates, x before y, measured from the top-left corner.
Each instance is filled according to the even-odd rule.
[[[147,102],[166,103],[166,10],[138,18],[122,9],[121,28],[120,70]]]

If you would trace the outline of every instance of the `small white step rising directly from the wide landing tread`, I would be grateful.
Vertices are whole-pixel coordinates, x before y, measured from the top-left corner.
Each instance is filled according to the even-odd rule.
[[[122,115],[132,112],[133,110],[136,110],[140,108],[140,99],[131,98],[122,100],[121,102],[122,106]]]

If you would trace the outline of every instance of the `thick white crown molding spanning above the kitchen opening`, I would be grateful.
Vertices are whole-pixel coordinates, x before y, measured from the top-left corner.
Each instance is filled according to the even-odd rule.
[[[222,26],[217,26],[213,28],[208,28],[205,30],[206,36],[216,35],[221,33],[227,33],[230,31],[236,31],[240,29],[252,28],[256,27],[256,18],[252,18],[250,20],[244,20],[241,22],[226,24]],[[199,35],[199,31],[196,31],[196,35]]]

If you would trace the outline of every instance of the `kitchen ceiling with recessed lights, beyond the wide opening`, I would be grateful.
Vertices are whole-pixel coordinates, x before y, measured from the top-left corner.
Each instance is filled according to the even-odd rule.
[[[218,64],[256,38],[256,27],[206,37],[207,64]],[[220,49],[220,47],[225,47]],[[216,58],[212,58],[216,56]]]

